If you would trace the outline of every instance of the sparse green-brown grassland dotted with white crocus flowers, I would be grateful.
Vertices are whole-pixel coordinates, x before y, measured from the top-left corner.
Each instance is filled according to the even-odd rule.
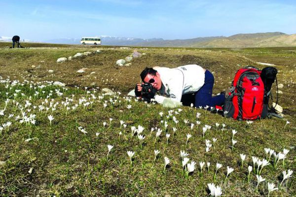
[[[267,182],[278,185],[282,181],[282,161],[275,168],[271,160],[271,164],[263,168],[261,175],[266,181],[260,183],[257,190],[255,173],[251,173],[248,183],[247,167],[253,165],[252,156],[265,158],[264,148],[267,147],[276,153],[289,149],[285,169],[295,173],[296,48],[136,49],[28,44],[26,47],[31,48],[9,49],[2,43],[0,47],[0,76],[2,80],[9,79],[0,83],[0,111],[5,109],[4,115],[0,115],[0,125],[12,122],[0,134],[1,196],[203,197],[208,195],[207,184],[212,182],[222,187],[224,196],[266,196]],[[97,49],[101,52],[56,63],[60,57]],[[131,66],[115,65],[116,60],[124,59],[134,50],[146,55],[132,60]],[[169,112],[170,109],[158,104],[136,102],[125,97],[140,81],[139,73],[146,66],[201,65],[214,72],[214,93],[217,94],[230,86],[238,68],[247,65],[264,67],[257,62],[275,64],[279,70],[278,83],[284,85],[280,89],[283,94],[279,95],[279,104],[284,109],[285,119],[259,120],[247,127],[246,122],[225,119],[201,109],[184,106],[182,111],[172,109]],[[80,68],[87,69],[77,73]],[[50,69],[53,73],[48,72]],[[13,80],[19,80],[19,83],[11,83]],[[66,87],[55,86],[49,81],[63,82]],[[105,95],[101,92],[103,88],[121,94]],[[45,109],[40,110],[40,105]],[[128,105],[131,105],[130,109]],[[159,115],[161,111],[164,112],[162,117]],[[35,124],[21,123],[22,112],[28,116],[35,114]],[[196,118],[197,112],[201,113],[199,119]],[[51,124],[47,118],[50,114],[54,117]],[[20,118],[16,120],[17,116]],[[179,120],[177,125],[173,116]],[[189,123],[185,124],[185,119]],[[120,120],[127,124],[126,129],[120,126]],[[201,121],[198,127],[197,120]],[[289,125],[286,125],[287,120]],[[168,122],[166,131],[161,121]],[[103,126],[103,122],[107,125]],[[194,124],[193,131],[191,123]],[[216,123],[220,124],[217,130]],[[222,123],[226,125],[224,131],[221,130]],[[215,149],[212,147],[205,156],[202,127],[206,124],[212,129],[206,132],[205,139],[216,137],[218,140]],[[142,147],[137,136],[131,133],[131,127],[138,125],[145,128]],[[83,127],[87,133],[78,127]],[[163,130],[156,142],[155,131],[150,132],[155,127]],[[178,128],[175,135],[173,127]],[[232,130],[238,131],[234,136],[238,141],[234,150],[231,149]],[[100,134],[97,136],[96,132]],[[171,134],[168,144],[165,133]],[[192,137],[185,145],[187,133],[192,133]],[[107,159],[108,144],[114,147]],[[155,149],[160,151],[156,161]],[[189,153],[190,161],[197,162],[195,171],[187,178],[179,156],[182,150]],[[132,164],[127,151],[136,152]],[[241,153],[247,155],[244,167],[241,167]],[[164,157],[171,160],[165,170]],[[201,161],[211,163],[209,172],[205,167],[199,172]],[[218,171],[217,180],[213,181],[217,162],[223,166]],[[233,167],[234,171],[224,183],[226,166]],[[295,196],[295,181],[293,174],[271,196]]]

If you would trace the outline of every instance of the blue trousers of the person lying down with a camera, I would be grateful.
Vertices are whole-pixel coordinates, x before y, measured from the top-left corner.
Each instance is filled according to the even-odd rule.
[[[206,105],[210,107],[215,107],[216,105],[223,105],[225,101],[225,95],[218,95],[215,97],[212,97],[213,92],[213,86],[214,86],[214,76],[209,71],[206,70],[205,72],[205,83],[204,85],[194,94],[195,107],[205,107]]]

